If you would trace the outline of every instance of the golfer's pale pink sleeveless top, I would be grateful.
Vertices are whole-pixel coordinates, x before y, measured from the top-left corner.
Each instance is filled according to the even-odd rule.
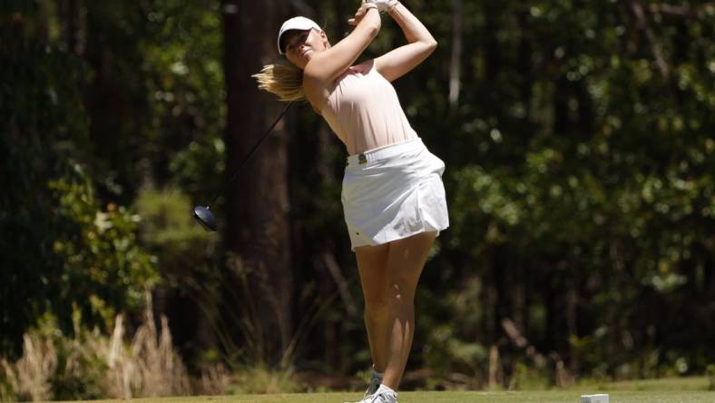
[[[336,80],[322,110],[351,155],[417,138],[395,88],[373,65],[350,67]]]

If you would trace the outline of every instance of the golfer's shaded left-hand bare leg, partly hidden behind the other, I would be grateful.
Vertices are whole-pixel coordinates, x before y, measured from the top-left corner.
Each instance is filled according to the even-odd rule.
[[[387,365],[387,252],[389,245],[355,248],[365,298],[365,327],[377,372]]]

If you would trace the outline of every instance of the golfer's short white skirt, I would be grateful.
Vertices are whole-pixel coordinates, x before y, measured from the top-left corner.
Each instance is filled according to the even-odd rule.
[[[352,250],[446,230],[443,172],[419,138],[349,156],[341,200]]]

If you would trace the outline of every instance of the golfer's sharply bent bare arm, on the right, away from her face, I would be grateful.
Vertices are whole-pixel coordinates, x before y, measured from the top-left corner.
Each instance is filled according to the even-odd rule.
[[[398,3],[389,14],[402,28],[407,44],[377,57],[375,68],[387,81],[394,81],[424,62],[435,51],[437,42],[405,5]]]

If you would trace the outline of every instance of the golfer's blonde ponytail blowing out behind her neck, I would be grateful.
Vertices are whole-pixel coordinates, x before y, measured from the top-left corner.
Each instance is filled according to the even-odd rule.
[[[289,62],[263,66],[260,73],[253,74],[259,88],[278,96],[280,101],[307,101],[303,92],[303,71]]]

